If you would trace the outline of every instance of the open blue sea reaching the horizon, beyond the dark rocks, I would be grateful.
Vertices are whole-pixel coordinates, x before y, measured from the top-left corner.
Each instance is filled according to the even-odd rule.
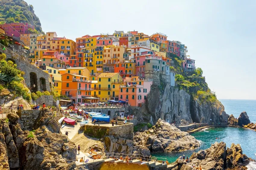
[[[251,122],[256,122],[256,100],[219,99],[225,107],[227,114],[233,114],[236,118],[245,111]]]

